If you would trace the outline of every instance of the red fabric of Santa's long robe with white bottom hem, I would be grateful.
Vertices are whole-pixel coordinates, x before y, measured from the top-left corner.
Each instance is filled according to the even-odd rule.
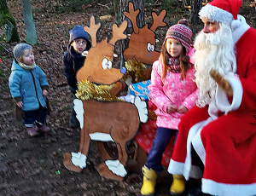
[[[236,195],[256,195],[255,37],[256,30],[250,28],[236,43],[236,73],[243,90],[241,106],[234,112],[221,115],[201,130],[205,150],[202,190],[212,195],[227,196],[231,195],[230,192],[233,195],[235,192]],[[196,108],[183,117],[172,160],[184,163],[189,128],[207,116],[206,108]],[[213,183],[214,187],[211,186]]]

